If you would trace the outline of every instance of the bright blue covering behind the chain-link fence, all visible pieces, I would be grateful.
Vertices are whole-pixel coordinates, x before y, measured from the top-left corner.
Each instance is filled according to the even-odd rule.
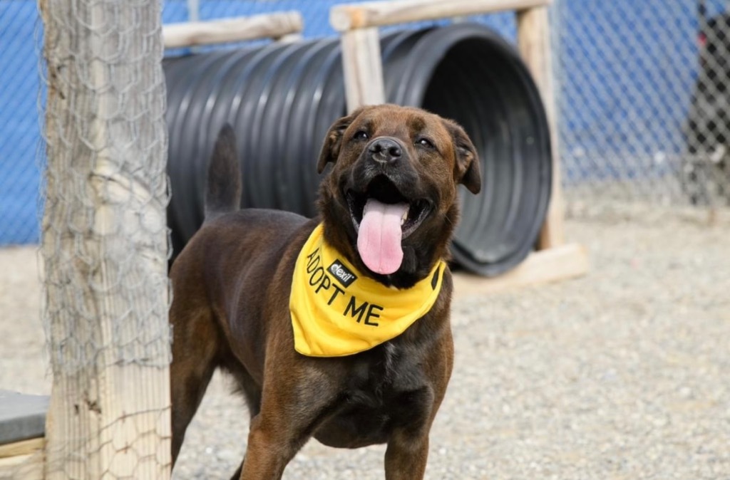
[[[201,0],[199,18],[296,9],[304,36],[331,36],[338,3]],[[719,12],[723,1],[707,6]],[[645,174],[632,159],[680,150],[697,68],[696,0],[556,0],[553,8],[564,180]],[[164,2],[164,23],[185,20],[186,1]],[[512,13],[476,20],[515,39]],[[38,241],[40,29],[36,0],[0,0],[0,245]],[[596,163],[593,152],[624,164]]]

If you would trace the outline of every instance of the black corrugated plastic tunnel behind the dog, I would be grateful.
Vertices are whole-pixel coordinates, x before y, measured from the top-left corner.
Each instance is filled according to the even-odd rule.
[[[461,191],[456,262],[493,276],[532,249],[550,197],[545,110],[518,53],[490,28],[459,23],[381,40],[389,102],[452,118],[479,151],[483,187]],[[164,62],[173,247],[202,222],[206,166],[223,123],[237,133],[242,206],[312,217],[327,128],[345,115],[338,39],[269,44]]]

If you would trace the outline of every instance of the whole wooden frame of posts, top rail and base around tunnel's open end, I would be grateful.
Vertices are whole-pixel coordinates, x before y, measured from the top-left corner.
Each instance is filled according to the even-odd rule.
[[[330,11],[331,26],[342,33],[347,107],[385,100],[378,26],[464,17],[500,10],[518,11],[518,45],[545,105],[553,158],[550,205],[538,248],[520,266],[496,279],[456,275],[456,293],[483,293],[580,276],[588,271],[585,248],[565,244],[556,101],[553,85],[548,5],[551,0],[396,0],[344,4]],[[460,286],[461,285],[461,286]]]

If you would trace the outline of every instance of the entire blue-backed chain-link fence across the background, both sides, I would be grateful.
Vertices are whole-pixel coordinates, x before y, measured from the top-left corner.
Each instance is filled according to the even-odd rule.
[[[164,23],[299,10],[331,36],[339,0],[168,0]],[[554,65],[566,198],[730,202],[726,0],[556,0]],[[510,41],[512,13],[474,18]],[[423,23],[415,26],[431,25]],[[404,28],[396,26],[391,28]],[[0,244],[38,241],[35,0],[0,1]],[[230,46],[229,46],[230,47]]]

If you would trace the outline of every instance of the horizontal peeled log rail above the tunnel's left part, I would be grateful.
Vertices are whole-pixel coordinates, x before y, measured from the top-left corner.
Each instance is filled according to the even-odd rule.
[[[299,12],[276,12],[207,22],[169,23],[162,27],[165,48],[193,47],[225,42],[299,34],[304,20]]]

